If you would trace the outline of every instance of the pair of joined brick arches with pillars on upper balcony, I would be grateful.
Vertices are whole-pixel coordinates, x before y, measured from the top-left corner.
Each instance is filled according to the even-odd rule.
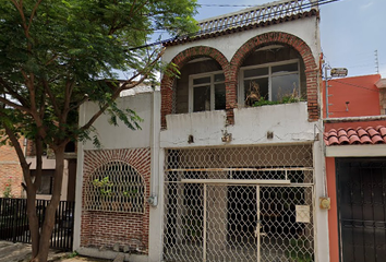
[[[237,107],[237,90],[240,67],[244,59],[258,47],[281,44],[295,49],[305,66],[305,78],[307,88],[307,110],[309,121],[316,121],[319,119],[319,105],[318,105],[318,72],[317,63],[313,57],[311,48],[299,37],[282,33],[270,32],[255,36],[242,45],[234,53],[229,62],[227,58],[217,49],[206,46],[192,47],[181,51],[172,59],[172,63],[177,64],[180,69],[190,60],[197,57],[209,57],[216,60],[222,68],[226,76],[226,100],[227,100],[227,120],[228,123],[234,122],[233,108]],[[161,80],[161,127],[166,128],[166,116],[172,112],[172,96],[174,78],[170,74],[165,74]]]

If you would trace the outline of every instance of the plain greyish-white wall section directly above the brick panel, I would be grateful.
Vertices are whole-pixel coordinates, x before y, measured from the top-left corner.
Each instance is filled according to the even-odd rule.
[[[153,92],[142,93],[135,96],[121,97],[117,102],[120,108],[130,108],[144,120],[143,122],[140,122],[142,130],[133,131],[121,121],[119,121],[118,127],[109,124],[108,115],[102,115],[96,120],[94,127],[97,130],[102,150],[141,148],[150,146],[153,96]],[[97,108],[98,106],[93,103],[86,103],[82,106],[81,114],[84,116],[81,124],[84,124]],[[84,150],[95,150],[93,142],[85,142]]]

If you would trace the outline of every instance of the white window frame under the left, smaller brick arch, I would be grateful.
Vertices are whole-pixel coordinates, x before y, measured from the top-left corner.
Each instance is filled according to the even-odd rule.
[[[215,75],[216,74],[224,74],[222,70],[219,71],[212,71],[212,72],[205,72],[205,73],[200,73],[200,74],[190,74],[189,75],[189,112],[200,112],[200,111],[194,111],[193,107],[194,107],[194,88],[195,87],[201,87],[201,86],[207,86],[210,85],[210,110],[208,111],[214,111],[215,109],[215,105],[216,105],[216,100],[215,100],[215,85],[216,84],[225,84],[226,83],[226,79],[224,79],[224,81],[219,81],[219,82],[215,82]],[[210,83],[205,83],[205,84],[193,84],[193,81],[195,79],[203,79],[203,78],[210,78]],[[219,110],[225,110],[225,109],[219,109]],[[206,111],[206,110],[204,110]]]

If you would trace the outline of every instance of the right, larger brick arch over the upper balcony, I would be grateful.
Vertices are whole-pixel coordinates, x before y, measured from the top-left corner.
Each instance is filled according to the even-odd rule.
[[[302,57],[305,67],[309,121],[316,121],[319,118],[319,107],[317,103],[317,63],[315,62],[310,46],[294,35],[284,32],[269,32],[257,35],[242,45],[230,61],[230,71],[234,72],[229,80],[232,92],[237,92],[240,67],[244,59],[256,48],[272,44],[284,44],[290,46]],[[233,103],[237,105],[237,100]]]

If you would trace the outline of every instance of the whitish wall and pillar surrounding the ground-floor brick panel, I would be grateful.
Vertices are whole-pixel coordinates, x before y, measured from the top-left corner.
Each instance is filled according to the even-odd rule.
[[[114,127],[108,123],[108,117],[101,116],[94,127],[97,130],[102,150],[114,148],[138,148],[150,147],[152,154],[152,177],[150,177],[150,195],[156,195],[158,205],[150,209],[149,225],[149,254],[148,255],[129,255],[125,261],[156,262],[160,261],[162,253],[162,217],[164,201],[162,196],[162,170],[164,170],[164,152],[159,148],[159,130],[160,130],[160,93],[141,93],[134,96],[121,97],[118,99],[121,108],[130,108],[144,119],[140,123],[142,130],[132,131],[123,123]],[[97,106],[87,103],[80,110],[80,123],[85,123]],[[74,222],[74,243],[73,249],[84,255],[93,255],[97,258],[114,259],[117,253],[113,251],[98,251],[92,248],[81,248],[81,214],[82,214],[82,188],[83,188],[83,162],[84,151],[95,150],[92,142],[79,143],[77,147],[77,170],[76,170],[76,192],[75,192],[75,222]]]

